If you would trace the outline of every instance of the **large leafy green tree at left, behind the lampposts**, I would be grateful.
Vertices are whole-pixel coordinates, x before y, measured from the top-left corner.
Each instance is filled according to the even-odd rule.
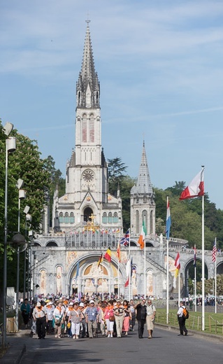
[[[6,137],[0,132],[0,251],[3,250],[4,236],[4,196],[5,196],[5,160],[6,160]],[[17,130],[11,133],[17,139],[17,148],[13,154],[8,153],[8,241],[10,241],[18,230],[18,197],[16,187],[18,179],[24,181],[22,187],[27,191],[27,198],[20,204],[20,232],[25,235],[26,221],[23,213],[24,207],[30,207],[29,213],[32,220],[29,224],[30,230],[39,232],[43,216],[43,207],[46,203],[46,191],[50,188],[50,174],[45,169],[45,162],[41,159],[36,141],[24,137]],[[0,265],[3,266],[3,254],[0,255]],[[16,254],[8,245],[8,286],[15,285],[16,276]],[[22,264],[21,264],[22,272]],[[11,272],[14,272],[11,273]],[[0,276],[1,285],[2,276]],[[20,279],[22,282],[22,279]]]

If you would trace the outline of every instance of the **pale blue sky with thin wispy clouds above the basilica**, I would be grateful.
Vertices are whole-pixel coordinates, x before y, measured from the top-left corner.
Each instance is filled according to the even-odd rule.
[[[102,144],[157,188],[188,184],[223,209],[223,2],[1,0],[0,118],[65,174],[87,14],[101,83]]]

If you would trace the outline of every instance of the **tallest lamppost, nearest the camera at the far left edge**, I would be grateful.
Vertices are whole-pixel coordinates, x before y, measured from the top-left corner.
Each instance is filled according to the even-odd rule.
[[[6,123],[3,132],[6,137],[13,130],[13,124]],[[6,139],[6,182],[5,182],[5,215],[4,215],[4,244],[3,244],[3,331],[2,347],[6,347],[6,307],[7,307],[7,234],[8,234],[8,153],[13,153],[16,149],[16,138]]]

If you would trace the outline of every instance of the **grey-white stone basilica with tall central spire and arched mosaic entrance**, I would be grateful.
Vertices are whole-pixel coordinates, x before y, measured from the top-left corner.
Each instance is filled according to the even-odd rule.
[[[155,196],[150,181],[145,141],[136,185],[131,188],[130,244],[120,244],[122,196],[108,190],[108,163],[101,145],[103,123],[99,76],[94,66],[89,21],[76,83],[75,146],[66,164],[66,193],[56,188],[52,226],[45,207],[43,232],[31,244],[31,295],[117,293],[166,297],[166,239],[155,231]],[[138,238],[145,224],[145,247]],[[173,290],[175,248],[187,241],[171,239],[169,287]],[[110,260],[105,254],[110,254]],[[129,276],[131,262],[131,279]]]

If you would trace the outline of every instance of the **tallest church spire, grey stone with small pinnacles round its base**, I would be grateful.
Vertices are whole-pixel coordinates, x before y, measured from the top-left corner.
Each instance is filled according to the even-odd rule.
[[[89,20],[86,20],[86,22],[87,30],[82,66],[76,85],[77,108],[100,108],[100,83],[94,68]]]

